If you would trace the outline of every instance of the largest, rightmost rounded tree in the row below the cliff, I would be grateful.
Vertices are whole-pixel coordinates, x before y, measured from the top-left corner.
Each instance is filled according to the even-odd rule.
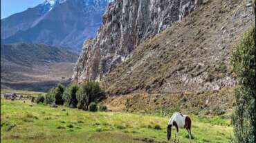
[[[105,97],[104,91],[98,82],[86,80],[77,91],[78,108],[88,110],[91,102],[97,102]]]

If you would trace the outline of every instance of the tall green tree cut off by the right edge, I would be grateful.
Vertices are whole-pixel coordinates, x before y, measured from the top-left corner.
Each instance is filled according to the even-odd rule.
[[[255,142],[255,24],[244,33],[232,52],[232,66],[237,75],[235,111],[232,115],[235,142]]]

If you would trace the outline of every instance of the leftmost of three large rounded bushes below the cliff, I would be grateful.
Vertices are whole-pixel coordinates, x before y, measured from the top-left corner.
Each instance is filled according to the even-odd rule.
[[[65,87],[62,84],[58,84],[57,87],[52,88],[46,94],[46,104],[64,104],[63,93]]]

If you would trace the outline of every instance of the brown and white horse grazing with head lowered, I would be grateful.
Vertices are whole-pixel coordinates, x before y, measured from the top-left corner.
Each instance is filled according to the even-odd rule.
[[[178,142],[179,142],[179,129],[185,128],[188,131],[188,135],[190,136],[191,142],[191,120],[188,115],[182,115],[179,112],[175,112],[170,118],[167,126],[167,140],[169,141],[171,138],[172,126],[175,126],[176,132],[174,137],[174,142],[176,141],[176,133],[178,133]]]

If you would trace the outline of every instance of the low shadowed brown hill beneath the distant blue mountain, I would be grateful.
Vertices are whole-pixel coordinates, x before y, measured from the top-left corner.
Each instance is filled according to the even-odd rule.
[[[1,88],[46,91],[67,84],[77,54],[60,47],[17,43],[1,45]]]

